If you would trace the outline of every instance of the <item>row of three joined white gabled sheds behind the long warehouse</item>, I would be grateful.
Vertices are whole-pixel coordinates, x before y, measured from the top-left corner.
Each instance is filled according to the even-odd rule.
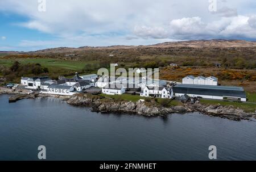
[[[218,85],[218,78],[210,76],[205,78],[203,76],[194,77],[189,75],[182,79],[182,84],[191,84],[191,85]]]

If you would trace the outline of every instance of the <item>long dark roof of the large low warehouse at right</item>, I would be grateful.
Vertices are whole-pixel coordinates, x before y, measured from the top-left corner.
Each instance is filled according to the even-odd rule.
[[[174,93],[212,95],[220,97],[240,97],[246,98],[242,87],[224,87],[224,86],[198,86],[198,85],[176,85],[172,88]]]

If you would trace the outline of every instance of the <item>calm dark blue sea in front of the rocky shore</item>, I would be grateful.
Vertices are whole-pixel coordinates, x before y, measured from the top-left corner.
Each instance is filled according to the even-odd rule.
[[[0,160],[256,160],[256,122],[198,113],[167,118],[100,114],[58,99],[0,95]]]

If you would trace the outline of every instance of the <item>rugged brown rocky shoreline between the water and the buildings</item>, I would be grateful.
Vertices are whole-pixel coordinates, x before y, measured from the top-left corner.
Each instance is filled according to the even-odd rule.
[[[8,91],[0,91],[0,94],[17,94]],[[20,94],[20,93],[18,93]],[[24,93],[23,93],[24,94]],[[111,98],[104,98],[98,95],[91,94],[75,94],[69,96],[37,94],[34,98],[58,98],[67,101],[73,106],[91,107],[94,112],[101,113],[130,113],[143,116],[165,116],[168,114],[185,114],[188,112],[200,112],[204,115],[216,116],[230,120],[255,120],[256,112],[249,113],[233,106],[204,105],[204,104],[183,104],[183,106],[162,107],[156,104],[154,100],[151,102],[128,102],[117,101]],[[23,99],[31,98],[31,96],[22,97]]]

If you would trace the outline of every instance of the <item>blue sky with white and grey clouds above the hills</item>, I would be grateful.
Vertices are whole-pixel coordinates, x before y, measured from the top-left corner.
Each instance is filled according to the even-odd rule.
[[[255,0],[0,0],[0,51],[254,41],[255,9]]]

